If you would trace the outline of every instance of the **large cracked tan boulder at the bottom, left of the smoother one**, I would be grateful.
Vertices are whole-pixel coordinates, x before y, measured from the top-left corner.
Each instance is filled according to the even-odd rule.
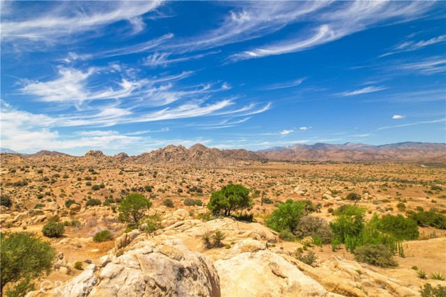
[[[212,262],[183,241],[137,241],[126,250],[119,257],[102,257],[101,266],[91,264],[68,284],[45,290],[49,294],[36,291],[27,297],[220,297],[220,279]]]

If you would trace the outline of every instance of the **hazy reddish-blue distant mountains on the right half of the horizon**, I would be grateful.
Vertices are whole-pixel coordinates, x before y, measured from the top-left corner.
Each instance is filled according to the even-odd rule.
[[[278,161],[415,161],[445,163],[446,144],[395,143],[390,145],[364,145],[345,143],[330,145],[291,145],[272,147],[256,152],[264,159]]]

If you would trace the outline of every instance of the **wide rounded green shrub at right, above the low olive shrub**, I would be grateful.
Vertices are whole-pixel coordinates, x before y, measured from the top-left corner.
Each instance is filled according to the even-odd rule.
[[[383,233],[394,236],[397,240],[414,240],[418,239],[417,222],[411,218],[403,216],[383,216],[378,223],[378,230]]]

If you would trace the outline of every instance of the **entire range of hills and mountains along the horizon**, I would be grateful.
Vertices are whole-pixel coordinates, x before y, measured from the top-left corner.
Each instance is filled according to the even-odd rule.
[[[1,152],[18,154],[12,150]],[[25,158],[70,156],[61,152],[43,150],[36,154],[24,155]],[[70,156],[72,157],[72,156]],[[389,145],[366,145],[362,143],[344,143],[332,145],[315,143],[314,145],[291,145],[270,147],[267,150],[252,152],[249,150],[219,150],[197,143],[186,148],[183,145],[168,145],[152,152],[128,156],[123,152],[115,156],[106,156],[100,151],[89,151],[82,157],[85,160],[107,159],[121,163],[141,163],[167,166],[236,166],[243,161],[398,161],[418,163],[446,164],[445,143],[394,143]]]

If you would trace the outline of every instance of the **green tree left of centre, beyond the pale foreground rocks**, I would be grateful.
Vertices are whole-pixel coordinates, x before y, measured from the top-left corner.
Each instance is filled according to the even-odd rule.
[[[148,201],[143,195],[137,193],[128,194],[119,204],[118,220],[129,225],[138,225],[139,220],[144,218],[144,213],[151,206],[152,202]]]

